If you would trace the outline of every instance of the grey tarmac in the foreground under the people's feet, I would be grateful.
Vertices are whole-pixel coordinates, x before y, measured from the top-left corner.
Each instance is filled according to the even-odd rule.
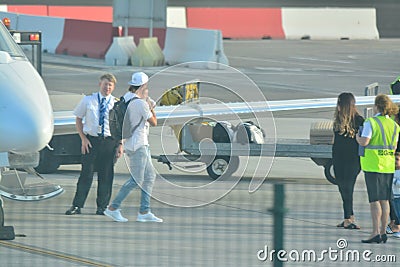
[[[288,168],[288,163],[291,169],[295,169],[297,176],[283,176],[283,173],[287,173],[285,166]],[[63,195],[35,203],[5,200],[6,224],[14,225],[16,233],[24,237],[0,242],[2,265],[272,266],[269,258],[261,261],[259,257],[265,258],[274,249],[273,216],[268,210],[274,207],[274,183],[282,181],[285,183],[287,208],[283,225],[285,250],[291,253],[298,251],[300,255],[314,251],[318,258],[322,257],[320,262],[311,258],[297,262],[289,260],[287,265],[342,266],[349,263],[340,258],[335,260],[334,257],[351,251],[357,251],[355,253],[360,253],[357,254],[360,257],[366,250],[371,251],[371,258],[383,255],[396,259],[399,257],[400,240],[390,238],[387,244],[374,245],[360,243],[370,231],[370,215],[362,176],[359,177],[354,194],[355,212],[362,230],[345,230],[335,227],[341,218],[337,188],[322,178],[318,167],[307,160],[300,163],[278,161],[274,166],[272,173],[275,173],[273,176],[276,178],[269,178],[253,194],[248,193],[249,179],[244,178],[225,197],[203,207],[173,207],[153,201],[153,211],[165,220],[162,224],[134,221],[138,192],[129,196],[123,207],[129,222],[115,223],[103,216],[94,215],[96,184],[93,185],[82,215],[63,215],[69,207],[79,175],[77,168],[69,166],[56,175],[46,175],[48,181],[64,187]],[[210,182],[204,174],[164,177],[190,187]],[[114,192],[125,179],[126,175],[117,175]],[[218,189],[198,192],[187,198],[187,201],[189,203],[193,199],[202,199],[203,194],[213,194],[216,191]],[[161,189],[161,192],[167,197],[181,197],[179,190]],[[347,243],[347,247],[339,249],[337,242],[340,246]],[[268,253],[258,254],[265,247]],[[331,252],[329,256],[321,254],[324,250],[336,252]],[[295,254],[291,254],[291,257],[295,257]],[[378,266],[362,258],[350,262],[352,266]],[[393,263],[382,265],[394,266]]]

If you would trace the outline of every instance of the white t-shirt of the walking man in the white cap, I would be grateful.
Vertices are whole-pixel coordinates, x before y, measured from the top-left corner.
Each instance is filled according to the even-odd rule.
[[[132,95],[133,95],[132,97],[136,96],[133,93],[130,94],[131,95],[129,96]],[[129,97],[128,93],[125,94],[125,96]],[[126,99],[125,96],[124,99]],[[131,99],[132,97],[130,97],[129,99]],[[128,116],[130,129],[133,129],[140,122],[139,126],[133,132],[133,135],[125,140],[124,142],[125,149],[130,151],[136,151],[141,146],[149,145],[148,136],[149,136],[150,124],[147,120],[153,117],[153,114],[151,113],[147,102],[143,99],[132,100],[128,105],[125,116]],[[142,121],[140,121],[141,118]]]

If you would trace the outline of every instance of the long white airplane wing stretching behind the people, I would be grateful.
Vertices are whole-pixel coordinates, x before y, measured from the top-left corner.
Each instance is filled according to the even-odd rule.
[[[400,95],[389,96],[394,103],[400,103]],[[356,96],[357,106],[372,106],[375,96]],[[159,126],[184,124],[191,119],[213,118],[215,120],[247,119],[265,112],[334,108],[337,98],[295,99],[235,103],[188,103],[155,108]],[[72,111],[54,112],[55,135],[76,133],[75,116]]]

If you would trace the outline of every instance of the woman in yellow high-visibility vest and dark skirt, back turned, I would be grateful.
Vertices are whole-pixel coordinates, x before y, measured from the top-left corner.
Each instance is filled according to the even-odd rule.
[[[360,155],[364,171],[372,217],[372,234],[363,243],[386,243],[386,226],[389,218],[389,200],[392,196],[395,172],[395,150],[400,126],[391,118],[399,108],[384,94],[375,98],[374,112],[363,125],[357,142],[364,148]]]

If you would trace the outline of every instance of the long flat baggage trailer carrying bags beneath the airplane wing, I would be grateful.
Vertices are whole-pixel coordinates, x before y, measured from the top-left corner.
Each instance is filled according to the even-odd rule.
[[[206,170],[212,179],[237,171],[240,156],[311,158],[317,165],[324,167],[325,178],[336,184],[332,168],[331,122],[314,123],[311,126],[310,139],[277,139],[276,143],[266,140],[265,144],[216,143],[210,135],[212,129],[204,130],[200,124],[189,123],[182,127],[179,136],[182,153],[153,158],[167,164],[170,169],[171,164],[178,162],[207,164]],[[199,130],[201,127],[203,129]],[[322,143],[314,143],[319,141]]]

